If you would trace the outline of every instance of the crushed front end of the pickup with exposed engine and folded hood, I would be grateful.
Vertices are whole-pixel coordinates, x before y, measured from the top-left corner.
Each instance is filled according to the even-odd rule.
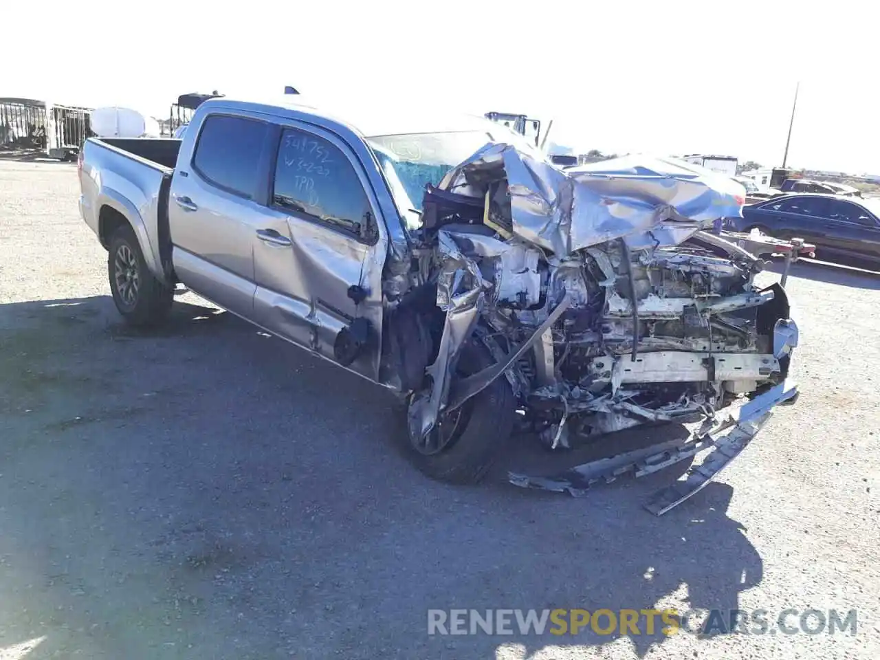
[[[553,449],[645,422],[710,423],[780,385],[797,343],[785,292],[759,289],[763,262],[705,231],[741,214],[739,195],[676,161],[563,172],[499,143],[452,169],[414,232],[416,288],[436,292],[444,320],[429,378],[410,379],[410,435],[494,378]],[[474,334],[496,362],[462,378]]]

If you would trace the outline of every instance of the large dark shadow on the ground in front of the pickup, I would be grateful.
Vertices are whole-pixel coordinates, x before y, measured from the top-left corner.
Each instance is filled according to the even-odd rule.
[[[0,345],[0,649],[45,635],[28,660],[494,658],[619,634],[429,636],[429,609],[733,609],[761,579],[729,486],[657,518],[669,474],[428,480],[385,392],[208,306],[141,334],[109,297],[5,304]]]

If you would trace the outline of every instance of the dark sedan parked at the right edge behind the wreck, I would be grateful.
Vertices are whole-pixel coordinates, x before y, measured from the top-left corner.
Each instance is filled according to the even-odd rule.
[[[743,208],[728,218],[733,231],[759,231],[775,238],[803,238],[816,245],[816,258],[880,268],[880,200],[833,194],[788,194]]]

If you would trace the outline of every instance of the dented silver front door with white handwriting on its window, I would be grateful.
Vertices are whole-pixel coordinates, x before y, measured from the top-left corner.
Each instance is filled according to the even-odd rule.
[[[256,228],[257,322],[338,362],[337,337],[355,319],[382,326],[385,225],[363,165],[339,136],[300,121],[279,127],[271,194]],[[378,350],[344,364],[378,377]]]

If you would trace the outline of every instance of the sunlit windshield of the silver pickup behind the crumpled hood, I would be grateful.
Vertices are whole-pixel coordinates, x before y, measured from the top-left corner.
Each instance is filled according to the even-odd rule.
[[[522,136],[508,128],[455,133],[414,133],[366,138],[391,187],[400,216],[409,228],[421,224],[422,195],[427,184],[436,186],[446,172],[489,142],[512,143],[528,150]],[[531,147],[534,150],[534,147]]]

